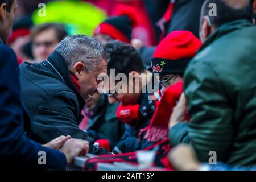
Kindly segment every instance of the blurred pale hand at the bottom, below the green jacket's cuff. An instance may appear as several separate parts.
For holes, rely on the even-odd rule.
[[[201,166],[193,147],[186,144],[173,148],[168,154],[168,159],[179,171],[197,171]]]

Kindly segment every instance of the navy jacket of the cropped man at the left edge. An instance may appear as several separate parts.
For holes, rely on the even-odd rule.
[[[23,119],[27,114],[21,101],[18,61],[14,51],[3,45],[0,45],[0,77],[1,167],[65,170],[66,158],[63,153],[42,147],[24,133],[26,128],[29,136],[30,121]],[[46,152],[46,165],[39,165],[39,151]]]

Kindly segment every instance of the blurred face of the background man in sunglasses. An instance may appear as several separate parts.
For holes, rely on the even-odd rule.
[[[53,28],[48,28],[39,32],[32,42],[32,53],[35,60],[43,61],[54,51],[60,41],[57,39],[56,31]]]

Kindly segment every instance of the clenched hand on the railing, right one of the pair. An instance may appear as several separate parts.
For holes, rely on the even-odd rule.
[[[60,150],[71,164],[76,156],[85,156],[89,151],[89,142],[81,139],[69,139]]]

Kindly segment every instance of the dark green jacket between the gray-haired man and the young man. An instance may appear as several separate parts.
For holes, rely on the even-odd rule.
[[[118,102],[110,104],[108,97],[104,94],[101,95],[95,116],[88,119],[87,133],[90,137],[94,140],[108,139],[110,146],[115,147],[125,129],[115,114],[118,106]]]

